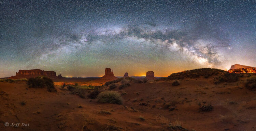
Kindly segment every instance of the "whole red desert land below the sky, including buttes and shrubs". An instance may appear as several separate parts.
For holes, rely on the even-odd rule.
[[[1,130],[255,130],[256,74],[195,69],[168,77],[64,78],[39,70],[1,79]],[[255,71],[250,67],[248,70]],[[247,70],[247,71],[248,71]],[[21,73],[29,72],[29,73]],[[53,72],[53,71],[52,71]],[[33,74],[34,77],[29,78]],[[54,90],[37,79],[52,78]],[[17,77],[19,76],[19,77]],[[34,78],[34,79],[33,79]],[[65,85],[64,84],[65,81]],[[104,97],[102,101],[102,95]],[[113,96],[112,96],[113,95]],[[21,123],[18,127],[4,124]],[[28,127],[22,123],[29,124]]]

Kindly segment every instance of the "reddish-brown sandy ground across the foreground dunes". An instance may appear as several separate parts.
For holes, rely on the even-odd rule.
[[[179,86],[172,86],[172,81],[131,83],[123,90],[114,89],[123,92],[123,105],[80,98],[61,90],[61,81],[57,81],[57,92],[28,88],[25,82],[0,82],[0,130],[161,131],[181,123],[183,128],[197,131],[255,131],[256,91],[245,88],[245,81],[242,77],[215,85],[213,77],[200,77],[183,79]],[[213,110],[200,111],[203,102]]]

